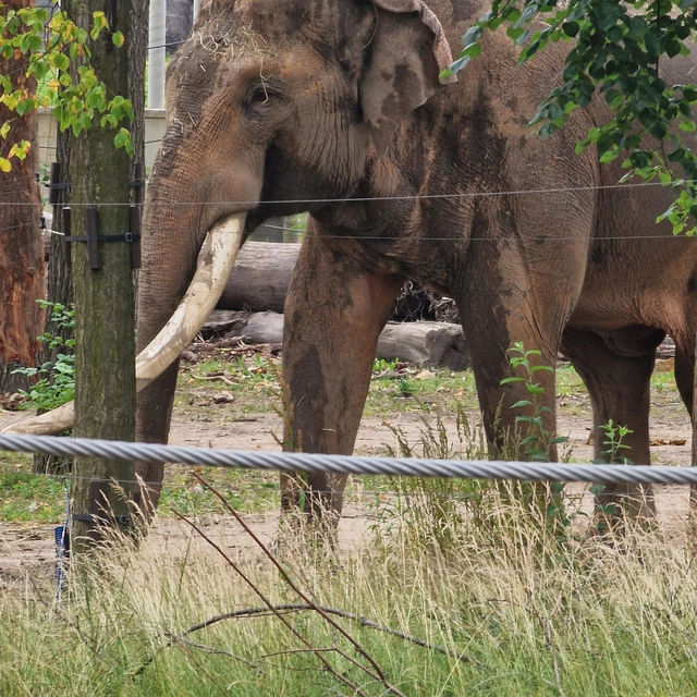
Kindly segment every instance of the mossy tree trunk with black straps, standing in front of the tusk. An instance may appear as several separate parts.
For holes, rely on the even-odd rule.
[[[103,11],[112,32],[121,32],[125,46],[117,49],[109,33],[91,42],[97,75],[113,95],[127,95],[132,3],[121,0],[85,0],[75,20],[87,27],[95,11]],[[140,48],[138,63],[145,60]],[[143,70],[132,65],[133,71]],[[139,123],[139,121],[138,121]],[[132,162],[113,147],[113,131],[96,124],[73,142],[71,162],[72,234],[118,235],[130,231]],[[142,131],[138,134],[142,139]],[[134,146],[135,152],[142,145]],[[89,208],[96,205],[94,228]],[[111,204],[111,205],[110,205]],[[121,204],[121,205],[113,205]],[[134,440],[135,436],[135,319],[132,249],[125,242],[98,245],[99,268],[91,268],[86,244],[73,244],[75,296],[75,435],[89,438]],[[95,516],[127,526],[133,498],[132,462],[95,457],[75,458],[72,549],[83,551],[97,537]],[[118,482],[115,488],[111,482]],[[120,490],[119,490],[120,489]],[[125,517],[120,517],[125,516]]]

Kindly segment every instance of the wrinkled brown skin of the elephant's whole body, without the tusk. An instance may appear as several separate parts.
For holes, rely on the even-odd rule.
[[[168,131],[143,241],[139,347],[175,308],[213,222],[246,211],[252,230],[309,209],[285,308],[289,443],[352,451],[377,337],[400,285],[415,279],[457,302],[492,442],[499,404],[505,429],[519,414],[510,405],[526,396],[519,384],[500,387],[510,375],[506,350],[522,341],[542,352],[542,364],[553,366],[560,348],[572,359],[591,395],[597,451],[598,427],[612,418],[634,431],[629,457],[648,463],[649,376],[665,332],[692,407],[697,245],[655,224],[670,193],[597,188],[615,184],[619,168],[601,167],[592,149],[576,156],[574,145],[607,118],[600,102],[546,142],[526,129],[559,80],[563,47],[518,68],[510,39],[489,37],[457,84],[439,85],[450,60],[440,25],[457,47],[485,4],[430,0],[432,13],[420,0],[205,7],[168,71]],[[667,82],[690,82],[689,65],[674,61]],[[467,196],[529,189],[553,191]],[[368,197],[405,198],[265,203]],[[172,366],[142,394],[140,439],[167,439],[175,375]],[[553,430],[554,376],[538,376]],[[151,481],[161,472],[144,474]],[[309,478],[335,512],[343,484]],[[293,499],[286,489],[284,504]]]

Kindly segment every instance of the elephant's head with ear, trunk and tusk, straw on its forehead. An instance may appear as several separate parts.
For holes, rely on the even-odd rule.
[[[350,197],[367,159],[389,147],[450,61],[423,0],[201,8],[168,69],[167,133],[146,201],[138,387],[163,375],[142,393],[142,439],[167,438],[176,359],[215,306],[244,233]]]

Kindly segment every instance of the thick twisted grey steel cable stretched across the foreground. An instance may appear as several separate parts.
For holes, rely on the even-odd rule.
[[[188,445],[130,443],[91,438],[0,433],[0,451],[91,456],[105,460],[172,462],[241,469],[277,469],[408,477],[591,481],[597,484],[697,484],[697,468],[649,465],[572,465],[559,463],[358,457],[311,453],[215,450]]]

